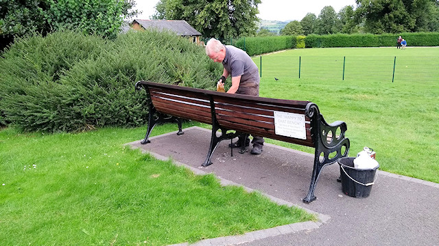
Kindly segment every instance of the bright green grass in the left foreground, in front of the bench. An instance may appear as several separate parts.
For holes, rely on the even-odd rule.
[[[1,130],[0,245],[169,245],[316,219],[123,147],[144,134]]]

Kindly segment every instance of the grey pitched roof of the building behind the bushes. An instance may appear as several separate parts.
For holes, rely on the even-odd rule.
[[[195,30],[185,20],[141,20],[134,19],[145,29],[155,28],[158,30],[170,30],[177,33],[178,36],[201,36],[201,33]]]

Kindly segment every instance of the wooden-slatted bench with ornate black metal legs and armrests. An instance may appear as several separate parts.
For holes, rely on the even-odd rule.
[[[227,94],[150,81],[139,81],[135,86],[137,90],[145,89],[150,110],[147,132],[141,143],[150,142],[150,133],[159,122],[176,121],[177,135],[183,134],[181,119],[212,125],[204,167],[212,164],[212,154],[220,141],[243,134],[315,148],[311,184],[302,199],[305,203],[316,200],[314,190],[322,168],[349,152],[346,123],[328,124],[313,102]],[[241,146],[245,148],[245,144]]]

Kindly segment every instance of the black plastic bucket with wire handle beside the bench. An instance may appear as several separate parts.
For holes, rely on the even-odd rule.
[[[373,169],[356,169],[354,159],[355,157],[344,157],[338,160],[342,191],[350,197],[365,198],[370,195],[379,165]]]

